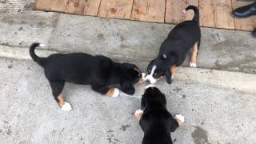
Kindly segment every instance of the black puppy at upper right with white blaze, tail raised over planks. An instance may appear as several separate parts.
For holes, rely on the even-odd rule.
[[[181,22],[170,31],[166,40],[162,42],[158,57],[151,61],[147,67],[147,82],[154,83],[158,78],[166,75],[166,81],[170,84],[178,66],[184,62],[186,53],[192,47],[190,66],[197,66],[196,58],[201,39],[199,13],[195,6],[186,7],[186,10],[190,9],[194,10],[193,20]],[[183,12],[185,13],[186,10]]]

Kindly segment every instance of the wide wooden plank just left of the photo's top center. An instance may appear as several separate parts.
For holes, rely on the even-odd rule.
[[[102,0],[98,16],[130,19],[134,0]]]

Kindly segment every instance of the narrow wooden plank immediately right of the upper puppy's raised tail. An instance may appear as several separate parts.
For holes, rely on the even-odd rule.
[[[199,1],[200,11],[200,25],[215,27],[215,10],[213,0],[200,0]]]

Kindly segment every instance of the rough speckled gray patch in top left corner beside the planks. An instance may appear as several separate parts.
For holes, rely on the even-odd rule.
[[[0,15],[18,14],[23,10],[32,10],[36,0],[1,0]]]

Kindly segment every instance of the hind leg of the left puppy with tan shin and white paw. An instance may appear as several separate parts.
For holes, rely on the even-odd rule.
[[[50,87],[53,91],[54,99],[56,100],[56,102],[58,102],[58,105],[62,108],[62,110],[70,111],[72,110],[72,107],[70,103],[65,102],[65,99],[62,94],[64,84],[64,81],[50,81]]]

